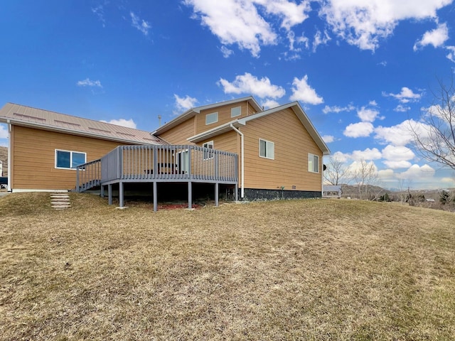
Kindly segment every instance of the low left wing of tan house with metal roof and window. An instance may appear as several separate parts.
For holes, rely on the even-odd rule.
[[[101,158],[119,145],[161,144],[147,131],[7,103],[9,190],[71,190],[79,163]]]

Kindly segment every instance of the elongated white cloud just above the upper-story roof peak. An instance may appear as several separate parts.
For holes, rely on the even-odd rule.
[[[233,82],[220,78],[218,85],[223,86],[225,94],[252,94],[260,98],[271,99],[283,97],[286,91],[278,85],[272,85],[269,78],[262,77],[260,80],[245,72],[245,75],[236,76]]]

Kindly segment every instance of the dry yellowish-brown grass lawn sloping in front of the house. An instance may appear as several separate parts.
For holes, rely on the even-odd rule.
[[[0,340],[454,340],[455,215],[0,198]]]

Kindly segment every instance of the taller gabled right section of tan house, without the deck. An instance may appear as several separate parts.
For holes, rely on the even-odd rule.
[[[170,144],[237,153],[240,197],[320,197],[330,151],[298,102],[263,111],[253,97],[190,109],[154,131]]]

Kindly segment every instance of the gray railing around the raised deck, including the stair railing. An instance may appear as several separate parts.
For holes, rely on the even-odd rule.
[[[92,163],[100,165],[99,173],[87,172]],[[77,166],[76,190],[84,183],[100,185],[117,180],[237,183],[238,177],[236,153],[200,146],[118,146],[92,163]],[[94,178],[89,179],[89,174]]]

